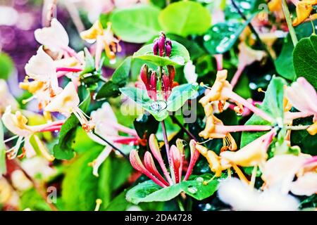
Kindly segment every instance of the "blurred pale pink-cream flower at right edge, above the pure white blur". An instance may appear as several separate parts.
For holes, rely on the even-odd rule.
[[[317,192],[317,157],[310,155],[275,155],[261,168],[264,188],[278,188],[282,193],[312,195]],[[297,176],[297,180],[294,177]]]

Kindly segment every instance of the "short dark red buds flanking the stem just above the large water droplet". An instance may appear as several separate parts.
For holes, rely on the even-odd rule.
[[[140,77],[142,82],[147,89],[147,94],[149,97],[156,101],[157,100],[157,89],[158,89],[158,82],[161,82],[161,91],[165,101],[167,101],[168,96],[170,96],[170,92],[172,91],[173,87],[177,85],[174,82],[175,78],[175,68],[173,65],[167,65],[168,74],[166,74],[165,70],[162,70],[162,77],[158,76],[157,72],[154,70],[149,70],[147,64],[144,64],[140,71]]]

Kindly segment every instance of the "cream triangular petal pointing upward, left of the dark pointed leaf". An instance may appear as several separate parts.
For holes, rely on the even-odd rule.
[[[73,82],[69,82],[66,87],[58,94],[45,110],[48,112],[72,113],[80,103],[77,91]]]

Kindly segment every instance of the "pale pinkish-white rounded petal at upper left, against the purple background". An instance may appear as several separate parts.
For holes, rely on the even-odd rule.
[[[34,34],[35,39],[51,51],[63,51],[68,48],[68,34],[56,18],[51,20],[51,27],[37,29]]]

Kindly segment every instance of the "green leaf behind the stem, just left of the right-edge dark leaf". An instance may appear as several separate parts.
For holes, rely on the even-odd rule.
[[[278,58],[274,60],[274,65],[278,74],[290,80],[294,80],[296,77],[294,65],[292,63],[293,49],[294,46],[292,44],[292,40],[290,39],[290,37],[288,37],[287,39],[285,39],[285,42],[282,46],[280,56],[278,56]]]

